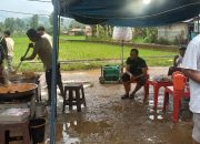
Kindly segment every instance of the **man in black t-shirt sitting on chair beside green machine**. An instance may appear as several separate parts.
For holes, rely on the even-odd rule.
[[[139,56],[138,49],[130,51],[130,56],[127,59],[126,72],[122,74],[122,83],[126,94],[121,99],[134,99],[134,94],[144,85],[147,81],[147,63]],[[137,85],[130,94],[131,83],[136,82]],[[129,95],[130,94],[130,95]]]

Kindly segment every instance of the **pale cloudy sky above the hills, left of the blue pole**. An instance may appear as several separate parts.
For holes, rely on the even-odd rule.
[[[49,2],[41,2],[49,1]],[[10,12],[9,12],[10,11]],[[53,11],[51,0],[0,0],[0,20],[4,18],[23,18],[32,14],[50,14]],[[13,13],[19,12],[19,13]],[[20,14],[20,13],[23,14]],[[26,14],[27,13],[27,14]]]

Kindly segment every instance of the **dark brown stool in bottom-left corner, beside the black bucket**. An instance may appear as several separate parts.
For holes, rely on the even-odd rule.
[[[14,131],[17,128],[22,132],[22,144],[30,144],[28,119],[22,122],[0,122],[0,144],[8,144],[10,137],[6,138],[6,133],[9,135],[8,132]]]

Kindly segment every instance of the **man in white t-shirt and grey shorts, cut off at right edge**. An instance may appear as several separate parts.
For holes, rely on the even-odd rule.
[[[200,34],[188,44],[182,72],[189,78],[190,111],[193,113],[193,144],[200,144]]]

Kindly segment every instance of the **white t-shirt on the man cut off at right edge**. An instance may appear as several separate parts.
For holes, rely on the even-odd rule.
[[[193,38],[188,44],[182,60],[182,68],[200,72],[200,34]],[[200,113],[200,83],[190,82],[190,111]]]

